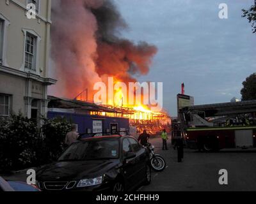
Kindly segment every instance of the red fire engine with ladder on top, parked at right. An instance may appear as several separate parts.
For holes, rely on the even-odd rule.
[[[212,151],[256,147],[256,101],[179,108],[180,130],[189,147]]]

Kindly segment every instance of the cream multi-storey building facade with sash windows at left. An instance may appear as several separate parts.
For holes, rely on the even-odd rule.
[[[51,0],[0,1],[1,117],[47,115],[50,27]]]

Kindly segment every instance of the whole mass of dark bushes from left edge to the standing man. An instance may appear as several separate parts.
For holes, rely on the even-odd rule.
[[[19,115],[0,118],[0,171],[20,170],[51,163],[64,150],[72,124],[65,119],[34,119]]]

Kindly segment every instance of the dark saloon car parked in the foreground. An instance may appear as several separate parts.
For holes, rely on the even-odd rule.
[[[150,184],[150,155],[132,136],[81,139],[36,179],[42,191],[131,191]]]

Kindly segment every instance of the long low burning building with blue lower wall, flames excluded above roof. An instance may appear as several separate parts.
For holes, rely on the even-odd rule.
[[[95,133],[94,122],[100,122],[102,133],[129,131],[138,136],[143,129],[156,135],[162,129],[170,131],[171,120],[165,112],[150,112],[111,105],[96,105],[88,101],[49,96],[48,117],[65,117],[77,125],[79,133]],[[97,133],[97,132],[96,132]]]

